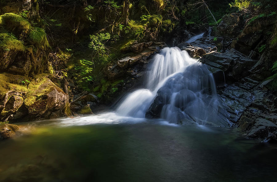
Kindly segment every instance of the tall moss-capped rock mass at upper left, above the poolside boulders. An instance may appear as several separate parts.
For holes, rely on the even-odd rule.
[[[47,69],[50,46],[43,29],[19,15],[0,16],[0,69],[34,75]]]

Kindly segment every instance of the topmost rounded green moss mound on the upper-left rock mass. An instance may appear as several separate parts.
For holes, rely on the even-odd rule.
[[[22,38],[31,29],[31,24],[21,16],[13,13],[6,13],[0,16],[1,17],[1,26],[13,34],[17,35],[19,38]]]

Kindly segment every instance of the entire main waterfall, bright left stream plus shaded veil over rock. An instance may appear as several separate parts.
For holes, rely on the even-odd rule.
[[[170,123],[189,120],[226,125],[218,113],[220,103],[212,73],[187,51],[177,47],[161,50],[154,56],[145,82],[144,88],[121,99],[116,109],[119,115],[144,118],[146,113],[153,114],[151,109],[159,103],[155,117]]]

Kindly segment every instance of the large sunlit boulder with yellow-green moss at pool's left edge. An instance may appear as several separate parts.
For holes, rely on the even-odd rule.
[[[68,94],[47,77],[40,77],[29,84],[24,104],[29,114],[41,115],[44,118],[71,114],[68,111]]]

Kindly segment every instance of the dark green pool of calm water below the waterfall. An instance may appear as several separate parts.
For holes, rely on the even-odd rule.
[[[277,181],[276,144],[236,129],[51,122],[0,143],[0,181]]]

